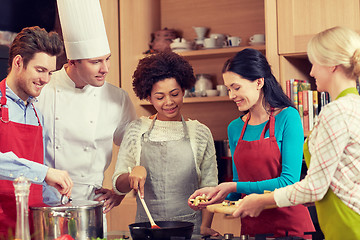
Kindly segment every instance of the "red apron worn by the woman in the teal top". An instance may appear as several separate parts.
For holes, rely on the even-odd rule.
[[[234,152],[234,163],[239,175],[240,182],[256,182],[277,178],[281,174],[281,152],[275,138],[275,117],[269,117],[260,140],[242,140],[249,117],[246,119],[241,136]],[[269,128],[269,138],[265,138],[265,132]],[[267,209],[256,217],[241,219],[241,234],[274,234],[274,237],[297,236],[311,238],[304,232],[315,231],[310,214],[306,207],[298,205],[294,207]]]

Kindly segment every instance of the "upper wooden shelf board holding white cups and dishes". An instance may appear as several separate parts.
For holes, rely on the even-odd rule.
[[[253,48],[261,52],[265,52],[265,45],[254,45],[254,46],[238,46],[238,47],[224,47],[224,48],[216,48],[216,49],[191,50],[191,51],[178,52],[178,54],[185,57],[186,59],[201,59],[205,57],[229,57],[234,55],[234,53],[244,50],[245,48]]]

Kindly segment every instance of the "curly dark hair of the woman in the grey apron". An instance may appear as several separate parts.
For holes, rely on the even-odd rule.
[[[192,66],[183,57],[171,51],[159,52],[139,61],[133,74],[136,96],[147,99],[153,85],[166,78],[175,78],[183,90],[192,88],[196,81]]]

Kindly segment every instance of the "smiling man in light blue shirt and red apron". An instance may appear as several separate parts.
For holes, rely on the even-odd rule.
[[[29,204],[42,202],[45,182],[61,194],[71,193],[68,173],[43,165],[43,117],[33,106],[56,70],[56,56],[62,50],[60,37],[39,27],[24,28],[10,48],[10,73],[0,83],[0,239],[15,232],[15,178],[25,176],[35,183]]]

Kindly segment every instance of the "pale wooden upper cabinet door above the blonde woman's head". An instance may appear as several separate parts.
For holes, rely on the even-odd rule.
[[[360,30],[358,0],[277,0],[279,54],[306,53],[309,39],[334,26]]]

